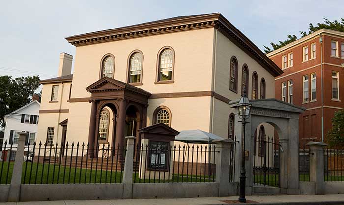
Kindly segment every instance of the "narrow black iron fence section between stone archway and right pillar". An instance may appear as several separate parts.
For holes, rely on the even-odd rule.
[[[299,181],[310,181],[309,146],[299,143]]]

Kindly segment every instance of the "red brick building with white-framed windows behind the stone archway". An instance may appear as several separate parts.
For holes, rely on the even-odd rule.
[[[331,118],[344,107],[344,32],[321,29],[267,56],[284,71],[275,78],[275,98],[306,108],[300,143],[326,141]]]

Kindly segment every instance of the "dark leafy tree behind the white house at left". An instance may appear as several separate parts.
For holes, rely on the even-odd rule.
[[[0,76],[0,127],[5,127],[4,116],[28,104],[39,87],[39,76],[12,79]],[[40,93],[36,93],[40,94]]]

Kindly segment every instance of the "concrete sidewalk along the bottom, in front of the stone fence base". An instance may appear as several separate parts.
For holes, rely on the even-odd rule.
[[[238,196],[180,199],[65,200],[44,202],[7,202],[0,205],[229,205]],[[252,204],[270,205],[344,205],[344,194],[247,196]],[[251,204],[251,205],[252,205]]]

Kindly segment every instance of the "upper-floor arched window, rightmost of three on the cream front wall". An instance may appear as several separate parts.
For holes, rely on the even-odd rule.
[[[174,70],[174,51],[171,47],[164,47],[159,52],[159,67],[157,82],[172,82]]]

